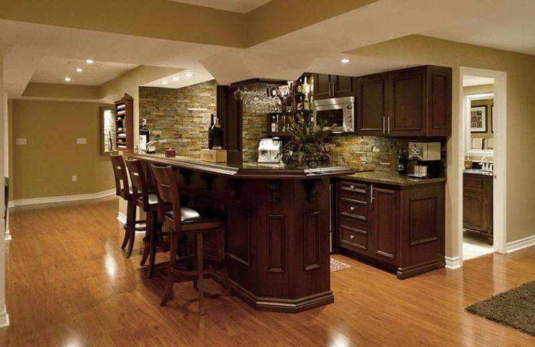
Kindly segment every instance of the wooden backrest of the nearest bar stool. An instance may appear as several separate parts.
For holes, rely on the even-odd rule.
[[[161,222],[164,220],[167,206],[173,206],[173,214],[175,216],[175,232],[181,234],[180,221],[180,195],[178,193],[178,182],[176,180],[173,167],[160,166],[151,164],[151,171],[153,172],[154,182],[156,185],[156,195],[158,196],[158,219]]]

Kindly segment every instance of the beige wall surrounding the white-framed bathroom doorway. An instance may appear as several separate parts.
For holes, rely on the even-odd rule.
[[[457,172],[459,167],[459,67],[507,73],[507,242],[535,234],[535,56],[411,35],[350,51],[362,56],[430,63],[453,68],[453,134],[448,141],[447,256],[459,254]]]

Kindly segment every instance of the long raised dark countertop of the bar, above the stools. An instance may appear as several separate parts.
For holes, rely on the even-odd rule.
[[[317,168],[287,168],[284,164],[268,164],[260,162],[205,162],[194,157],[165,157],[163,154],[139,154],[125,152],[132,157],[158,164],[179,167],[185,170],[212,173],[237,178],[267,179],[310,179],[317,177],[343,176],[355,172],[349,166],[327,165]]]

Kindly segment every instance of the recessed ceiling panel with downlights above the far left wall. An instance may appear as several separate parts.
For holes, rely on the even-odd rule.
[[[137,67],[138,65],[136,64],[107,63],[102,61],[87,64],[85,60],[81,59],[45,56],[39,61],[34,75],[31,76],[31,82],[100,86]],[[82,68],[83,71],[78,73],[76,72],[76,68]],[[63,78],[65,77],[71,78],[71,82],[64,81]]]

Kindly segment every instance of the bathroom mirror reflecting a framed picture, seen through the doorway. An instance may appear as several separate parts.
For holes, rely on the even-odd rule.
[[[479,157],[494,155],[494,93],[464,95],[465,153]]]

